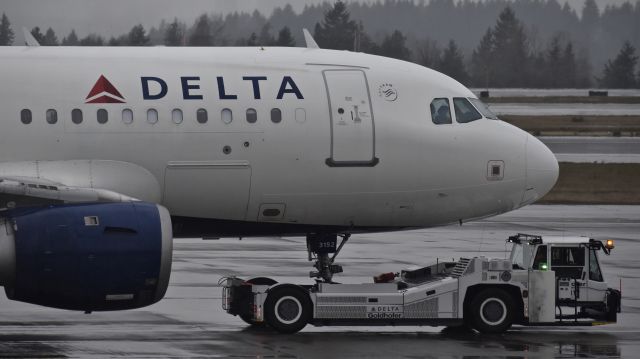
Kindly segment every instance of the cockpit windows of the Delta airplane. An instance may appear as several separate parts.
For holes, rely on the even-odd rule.
[[[472,104],[473,103],[473,104]],[[474,107],[475,105],[475,107]],[[451,106],[448,98],[436,98],[431,101],[431,120],[436,125],[453,123],[451,119]],[[454,97],[453,108],[456,113],[456,122],[469,123],[486,117],[491,120],[498,120],[487,105],[475,98]]]

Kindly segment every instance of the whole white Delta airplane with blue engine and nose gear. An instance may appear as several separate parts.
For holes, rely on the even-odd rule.
[[[306,236],[331,280],[319,248],[338,235],[486,218],[555,184],[551,151],[455,80],[306,35],[307,48],[0,48],[7,296],[155,303],[180,237]]]

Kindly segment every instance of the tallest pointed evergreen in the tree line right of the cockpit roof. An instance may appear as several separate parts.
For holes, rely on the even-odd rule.
[[[507,6],[493,30],[493,86],[525,87],[528,79],[527,36],[520,20]]]

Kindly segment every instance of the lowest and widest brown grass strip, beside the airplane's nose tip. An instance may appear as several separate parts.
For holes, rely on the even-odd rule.
[[[640,163],[560,163],[540,203],[640,204]]]

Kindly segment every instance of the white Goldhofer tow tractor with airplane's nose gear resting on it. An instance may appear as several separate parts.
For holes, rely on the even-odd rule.
[[[317,254],[318,271],[311,274],[322,279],[297,285],[264,277],[223,278],[223,309],[281,333],[295,333],[307,324],[465,325],[502,333],[512,324],[610,324],[620,313],[620,291],[608,288],[598,260],[600,252],[610,254],[612,240],[517,234],[507,239],[509,259],[436,261],[381,274],[373,283],[338,284],[332,275],[342,270],[333,260],[348,236],[338,247],[330,236],[307,239],[310,259]]]

